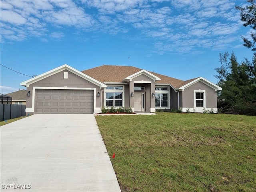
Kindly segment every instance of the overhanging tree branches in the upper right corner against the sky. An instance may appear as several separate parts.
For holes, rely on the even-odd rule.
[[[236,6],[236,9],[240,10],[241,20],[244,23],[244,26],[250,26],[253,30],[256,30],[256,1],[255,0],[247,0],[250,5],[245,8],[241,6]],[[244,46],[248,48],[252,48],[252,51],[256,51],[256,32],[250,32],[252,40],[248,40],[244,36],[242,36],[244,40]],[[255,54],[254,54],[255,55]]]

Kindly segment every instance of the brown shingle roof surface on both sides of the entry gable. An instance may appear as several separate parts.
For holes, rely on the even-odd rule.
[[[82,71],[82,73],[104,83],[104,82],[122,82],[124,78],[141,71],[142,69],[132,67],[132,66],[114,66],[114,65],[102,65],[96,68],[88,69]],[[150,72],[150,71],[148,71]],[[157,81],[156,84],[171,84],[174,88],[180,87],[180,85],[184,85],[191,82],[192,80],[179,80],[176,78],[164,76],[161,74],[157,74],[154,72],[150,72],[155,76],[161,78],[161,80]]]

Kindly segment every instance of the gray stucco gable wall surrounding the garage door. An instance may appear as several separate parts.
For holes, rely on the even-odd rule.
[[[68,72],[68,79],[63,78],[64,72]],[[96,88],[96,93],[98,91],[100,92],[100,97],[98,98],[96,96],[96,107],[101,107],[101,97],[102,97],[102,92],[99,86],[96,86],[92,82],[89,82],[85,80],[84,78],[81,78],[80,76],[77,76],[76,74],[68,71],[68,70],[63,70],[61,72],[58,72],[52,76],[49,76],[47,78],[44,78],[38,82],[35,82],[33,84],[30,84],[29,87],[27,88],[27,92],[31,92],[31,96],[27,97],[26,101],[26,107],[30,108],[32,107],[32,98],[33,98],[33,87],[64,87],[66,86],[67,88],[72,88],[72,87],[77,87],[77,88]],[[30,113],[31,114],[31,113]]]

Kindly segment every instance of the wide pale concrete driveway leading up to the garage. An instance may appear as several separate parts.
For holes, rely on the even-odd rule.
[[[0,131],[1,191],[120,191],[93,114],[32,115]]]

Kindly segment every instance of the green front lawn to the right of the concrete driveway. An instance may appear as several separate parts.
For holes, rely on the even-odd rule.
[[[162,112],[96,120],[122,191],[256,189],[256,117]]]

